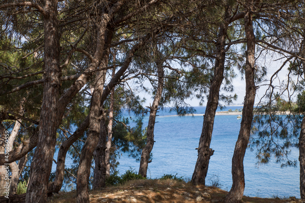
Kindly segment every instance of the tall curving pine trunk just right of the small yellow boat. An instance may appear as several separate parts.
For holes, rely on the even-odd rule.
[[[235,144],[234,155],[232,158],[232,180],[231,190],[225,198],[226,203],[235,203],[242,201],[242,195],[245,189],[245,174],[243,160],[248,146],[251,124],[253,119],[253,105],[255,100],[254,83],[254,63],[255,63],[255,36],[252,24],[253,5],[248,4],[245,14],[245,32],[247,39],[246,51],[246,97],[242,109],[242,121],[237,142]]]

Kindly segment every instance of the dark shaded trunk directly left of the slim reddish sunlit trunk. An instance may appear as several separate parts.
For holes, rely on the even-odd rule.
[[[105,118],[100,123],[99,143],[95,148],[93,157],[95,162],[92,189],[98,190],[105,187],[106,181],[106,137]]]

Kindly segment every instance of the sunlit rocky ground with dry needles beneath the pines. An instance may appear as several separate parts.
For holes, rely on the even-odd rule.
[[[90,202],[92,203],[210,203],[224,202],[228,192],[217,187],[192,186],[176,180],[134,180],[119,187],[107,187],[101,191],[90,192]],[[48,202],[68,203],[76,202],[76,192],[55,194],[48,198]],[[243,197],[243,202],[253,203],[278,203],[304,202],[295,197],[287,199],[280,198],[252,198]]]

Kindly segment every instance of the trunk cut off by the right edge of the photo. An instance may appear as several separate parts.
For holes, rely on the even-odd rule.
[[[300,150],[300,194],[301,199],[305,199],[305,117],[303,117],[301,132],[299,137]]]

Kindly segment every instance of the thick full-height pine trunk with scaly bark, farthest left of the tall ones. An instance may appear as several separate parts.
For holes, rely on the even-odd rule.
[[[26,202],[47,201],[48,180],[52,169],[52,160],[56,145],[57,108],[61,84],[57,0],[46,0],[44,10],[44,90],[39,121],[38,143],[31,163]]]

